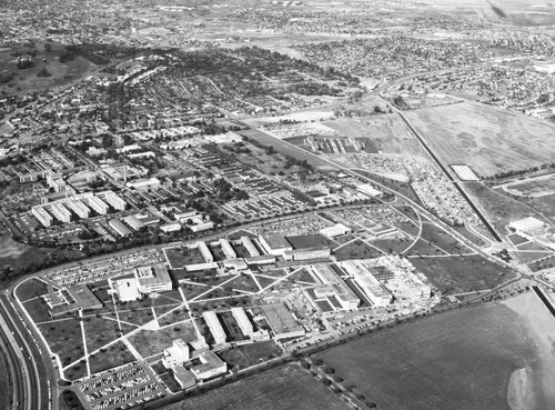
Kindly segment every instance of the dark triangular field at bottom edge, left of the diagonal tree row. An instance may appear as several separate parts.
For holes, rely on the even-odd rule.
[[[295,364],[185,398],[167,410],[345,410],[346,403]]]

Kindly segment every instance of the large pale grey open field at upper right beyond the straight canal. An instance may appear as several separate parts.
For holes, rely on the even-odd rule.
[[[481,176],[555,160],[555,126],[486,104],[463,102],[405,117],[445,164],[465,163]]]

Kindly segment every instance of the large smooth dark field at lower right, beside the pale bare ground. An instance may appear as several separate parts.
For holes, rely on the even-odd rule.
[[[319,357],[390,410],[505,410],[512,373],[537,364],[526,326],[501,304],[382,330]]]

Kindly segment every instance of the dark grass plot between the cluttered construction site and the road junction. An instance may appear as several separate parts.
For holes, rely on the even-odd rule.
[[[492,289],[514,277],[513,271],[477,254],[410,260],[443,294]]]

